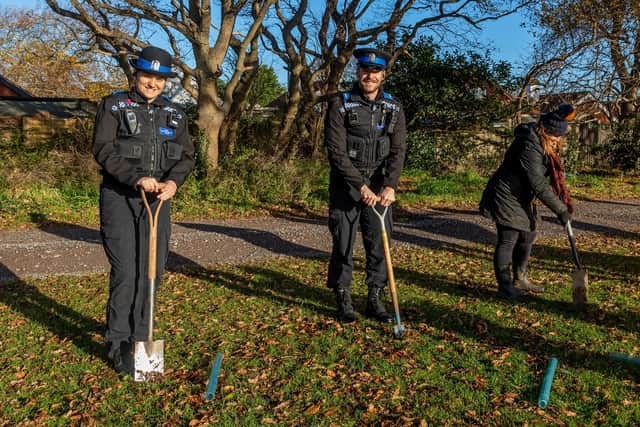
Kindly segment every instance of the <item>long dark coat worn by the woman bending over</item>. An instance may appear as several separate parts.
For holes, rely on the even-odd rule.
[[[536,125],[520,125],[514,134],[515,140],[482,194],[480,212],[498,224],[533,231],[536,227],[535,198],[556,215],[565,212],[567,206],[551,191],[547,182],[549,156],[542,149]]]

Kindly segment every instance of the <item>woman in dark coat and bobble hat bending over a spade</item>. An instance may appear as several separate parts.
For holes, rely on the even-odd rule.
[[[521,291],[544,291],[527,280],[536,237],[534,201],[537,198],[551,209],[563,226],[571,219],[573,207],[558,152],[564,145],[567,120],[574,116],[573,107],[563,104],[540,116],[537,123],[516,127],[513,143],[482,194],[480,212],[496,222],[498,232],[493,265],[500,297],[514,299]]]

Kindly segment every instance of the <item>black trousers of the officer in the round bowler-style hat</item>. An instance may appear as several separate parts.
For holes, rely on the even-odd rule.
[[[155,212],[157,199],[153,193],[147,193],[147,198]],[[158,215],[156,287],[169,253],[169,212],[170,201],[165,201]],[[111,264],[105,334],[105,341],[111,344],[111,353],[121,342],[147,339],[149,223],[140,193],[129,187],[103,183],[100,188],[100,232]]]

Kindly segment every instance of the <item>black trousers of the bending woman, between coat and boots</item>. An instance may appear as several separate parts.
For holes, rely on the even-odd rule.
[[[536,238],[535,231],[523,231],[497,224],[498,243],[493,255],[496,276],[513,263],[513,267],[526,268],[531,255],[531,247]],[[500,281],[500,277],[498,277]]]

